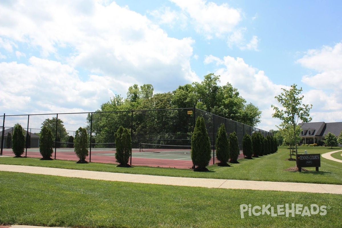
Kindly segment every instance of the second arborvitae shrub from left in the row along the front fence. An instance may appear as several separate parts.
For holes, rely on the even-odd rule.
[[[53,134],[50,128],[43,126],[39,136],[39,152],[42,155],[40,160],[52,160]]]

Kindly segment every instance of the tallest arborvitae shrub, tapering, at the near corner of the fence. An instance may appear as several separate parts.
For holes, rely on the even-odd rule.
[[[211,159],[211,145],[203,117],[197,117],[194,133],[191,136],[191,159],[197,168],[194,171],[207,171]]]

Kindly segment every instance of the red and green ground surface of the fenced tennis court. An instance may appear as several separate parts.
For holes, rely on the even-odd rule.
[[[12,149],[3,149],[2,155],[14,156]],[[30,158],[41,158],[41,154],[39,152],[39,148],[28,148],[27,152],[24,151],[22,156],[30,157]],[[145,156],[145,157],[144,157]],[[170,158],[166,158],[169,156]],[[70,160],[70,161],[78,161],[79,158],[76,156],[73,149],[70,148],[57,148],[56,153],[53,152],[52,158],[60,159],[60,160]],[[239,159],[244,158],[242,153],[239,155]],[[98,162],[98,163],[112,163],[118,164],[115,159],[115,151],[111,150],[100,150],[100,149],[92,149],[90,155],[86,158],[89,162]],[[215,162],[217,159],[215,158]],[[129,162],[130,163],[130,162]],[[168,154],[167,152],[163,153],[154,153],[154,152],[139,152],[139,149],[132,149],[132,165],[139,166],[151,166],[151,167],[171,167],[178,169],[191,169],[193,166],[192,160],[190,158],[189,153],[185,153],[185,155],[172,155],[172,152]],[[214,164],[213,158],[209,162],[209,165]]]

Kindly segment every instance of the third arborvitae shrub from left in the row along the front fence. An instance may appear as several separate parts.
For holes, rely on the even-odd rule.
[[[88,133],[87,129],[79,128],[75,132],[74,147],[77,157],[80,159],[77,163],[88,163],[86,157],[88,156]]]

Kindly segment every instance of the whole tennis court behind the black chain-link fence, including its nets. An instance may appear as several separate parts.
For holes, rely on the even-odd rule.
[[[86,160],[98,163],[118,164],[115,159],[115,144],[92,145],[88,148],[89,156]],[[107,146],[102,148],[103,146]],[[56,151],[56,152],[55,152]],[[3,155],[14,156],[12,149],[3,149]],[[211,161],[209,164],[217,162],[213,158],[214,151],[211,152]],[[41,158],[39,148],[25,149],[23,156],[31,158]],[[53,159],[78,161],[74,148],[56,148],[52,154]],[[239,158],[243,158],[240,154]],[[153,166],[153,167],[172,167],[181,169],[190,169],[193,166],[191,160],[191,146],[180,145],[158,145],[158,144],[139,144],[139,148],[132,149],[132,158],[129,161],[132,165]]]

